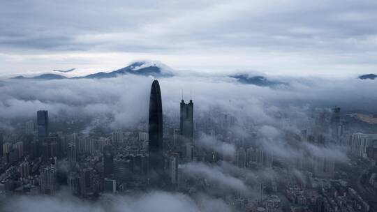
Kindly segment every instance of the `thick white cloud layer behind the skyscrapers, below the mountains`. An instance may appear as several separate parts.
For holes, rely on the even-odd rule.
[[[145,121],[151,77],[126,75],[110,79],[7,80],[0,86],[0,119],[34,119],[38,109],[52,116],[111,117],[112,127]],[[288,79],[286,79],[288,80]],[[289,79],[275,88],[239,84],[228,77],[160,79],[163,110],[178,114],[179,101],[193,93],[195,115],[218,107],[255,123],[274,122],[272,115],[290,114],[303,120],[313,107],[366,109],[375,112],[377,82],[358,79]],[[240,119],[239,121],[242,121]]]

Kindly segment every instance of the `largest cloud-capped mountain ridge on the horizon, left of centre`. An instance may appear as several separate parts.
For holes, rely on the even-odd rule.
[[[160,66],[164,66],[161,65]],[[119,75],[143,75],[143,76],[153,76],[153,77],[172,77],[173,74],[168,70],[168,68],[161,68],[160,66],[156,66],[156,64],[147,63],[145,61],[131,63],[131,65],[126,66],[124,68],[114,70],[109,73],[99,72],[94,73],[91,75],[86,75],[82,77],[64,77],[62,75],[56,74],[43,74],[38,75],[35,77],[24,77],[24,76],[17,76],[13,77],[12,79],[102,79],[102,78],[111,78],[117,77]]]

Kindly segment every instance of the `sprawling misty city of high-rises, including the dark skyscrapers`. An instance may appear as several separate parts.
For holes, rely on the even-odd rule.
[[[274,135],[272,126],[221,109],[197,116],[193,98],[177,100],[179,117],[164,116],[162,93],[154,79],[148,119],[126,129],[77,132],[79,120],[52,122],[38,110],[20,129],[3,131],[1,202],[63,191],[96,202],[161,190],[211,195],[239,211],[376,210],[377,134],[360,132],[341,107],[312,110],[300,131],[277,117]],[[69,127],[53,130],[61,122]]]

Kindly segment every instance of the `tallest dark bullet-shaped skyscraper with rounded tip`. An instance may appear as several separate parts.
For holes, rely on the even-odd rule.
[[[149,98],[149,169],[162,172],[163,161],[163,114],[161,90],[157,80],[151,85]]]

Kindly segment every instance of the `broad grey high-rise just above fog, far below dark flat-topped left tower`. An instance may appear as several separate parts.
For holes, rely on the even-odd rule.
[[[40,169],[39,175],[40,193],[43,195],[54,195],[57,191],[57,171],[54,165]]]

